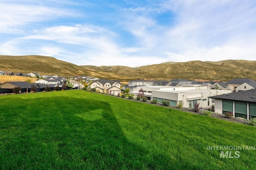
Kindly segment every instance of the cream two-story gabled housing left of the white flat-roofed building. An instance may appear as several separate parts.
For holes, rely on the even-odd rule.
[[[121,92],[119,80],[94,80],[90,85],[91,89],[95,88],[98,92],[118,95]]]

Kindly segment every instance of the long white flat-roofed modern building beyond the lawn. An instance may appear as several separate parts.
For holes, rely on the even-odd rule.
[[[209,89],[209,87],[173,87],[173,86],[142,86],[144,96],[148,100],[157,100],[158,102],[168,101],[171,106],[177,106],[179,102],[183,107],[194,107],[195,103],[200,103],[200,107],[209,109],[214,104],[214,99],[209,96],[230,93],[230,90]],[[129,92],[137,95],[137,92]]]

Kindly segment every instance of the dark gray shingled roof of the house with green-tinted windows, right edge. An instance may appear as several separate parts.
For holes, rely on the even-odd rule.
[[[254,98],[253,98],[254,97]],[[256,103],[256,89],[210,96],[209,98]]]

